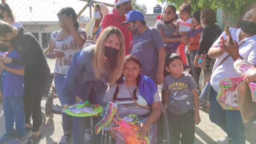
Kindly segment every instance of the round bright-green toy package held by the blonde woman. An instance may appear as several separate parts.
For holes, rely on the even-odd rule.
[[[86,102],[79,102],[78,104],[72,104],[65,110],[66,114],[70,116],[86,117],[86,116],[102,116],[102,106],[100,104],[90,104]]]

